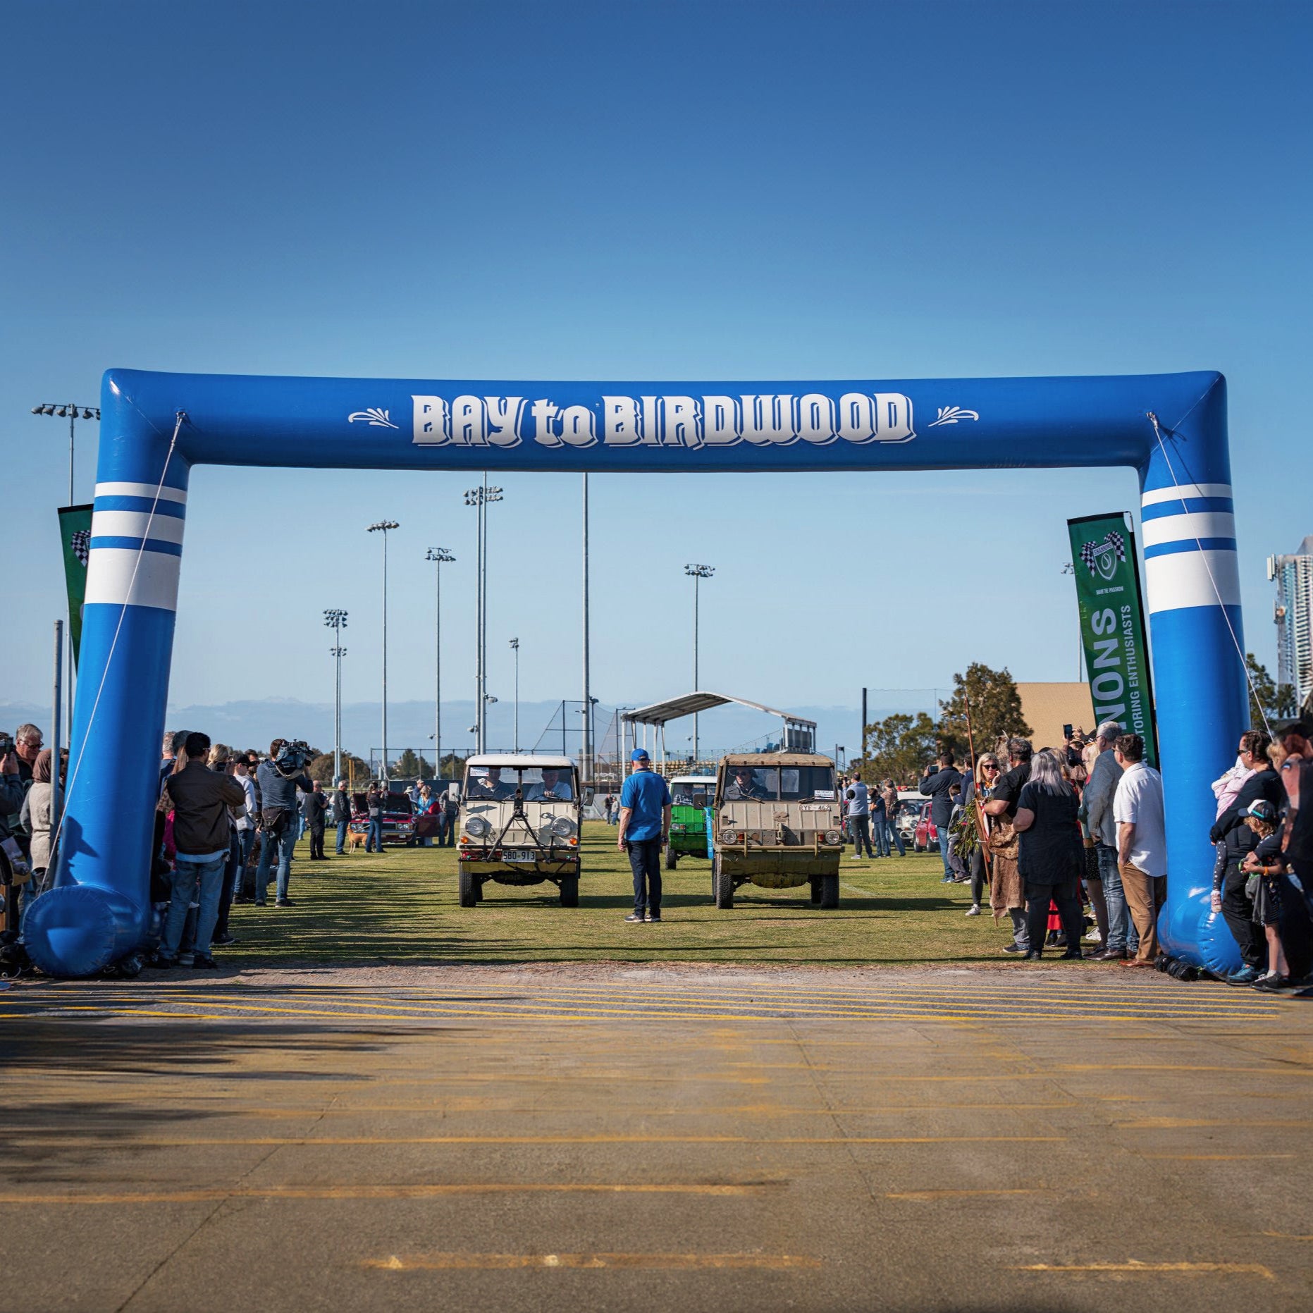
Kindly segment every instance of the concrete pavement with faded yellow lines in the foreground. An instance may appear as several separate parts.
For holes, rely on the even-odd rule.
[[[1008,965],[20,985],[0,1308],[1308,1308],[1313,1012]]]

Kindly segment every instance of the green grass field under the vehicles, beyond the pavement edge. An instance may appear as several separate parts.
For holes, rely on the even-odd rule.
[[[846,855],[836,911],[818,911],[807,889],[743,886],[730,911],[710,899],[710,867],[684,857],[664,872],[663,922],[630,926],[628,859],[616,831],[584,827],[579,907],[555,885],[487,884],[484,902],[456,899],[454,848],[386,848],[381,856],[307,860],[291,871],[295,906],[232,909],[239,943],[222,949],[234,966],[529,961],[998,962],[1010,935],[989,910],[968,918],[969,888],[940,884],[939,855],[852,861]],[[332,831],[328,836],[332,851]],[[1056,955],[1049,955],[1050,957]],[[1077,966],[1077,964],[1064,964]]]

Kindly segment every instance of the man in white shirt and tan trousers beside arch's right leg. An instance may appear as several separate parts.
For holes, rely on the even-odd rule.
[[[1123,966],[1153,966],[1158,956],[1158,913],[1167,901],[1167,827],[1162,776],[1144,760],[1138,734],[1123,734],[1113,752],[1123,775],[1112,800],[1117,825],[1117,869],[1140,935],[1140,951]]]

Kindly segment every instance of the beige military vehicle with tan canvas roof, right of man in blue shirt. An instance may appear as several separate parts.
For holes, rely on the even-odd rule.
[[[734,890],[811,886],[811,902],[839,906],[843,807],[834,762],[811,752],[733,752],[716,780],[712,895],[734,906]]]

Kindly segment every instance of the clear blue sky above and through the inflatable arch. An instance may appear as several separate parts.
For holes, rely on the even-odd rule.
[[[67,432],[106,366],[431,378],[1221,369],[1249,646],[1313,532],[1308,5],[318,3],[5,8],[5,679],[49,688]],[[79,500],[95,478],[81,428]],[[1278,483],[1279,481],[1279,483]],[[205,469],[171,700],[473,687],[469,477]],[[579,479],[509,474],[491,688],[578,697]],[[1300,490],[1293,507],[1274,487]],[[595,477],[593,692],[781,706],[1074,679],[1065,519],[1129,471]],[[769,569],[763,569],[769,561]],[[825,621],[763,651],[737,607]],[[1007,605],[1001,605],[1001,599]],[[809,608],[810,609],[810,608]],[[1002,618],[1011,614],[1012,622]],[[22,622],[14,624],[20,617]],[[777,635],[776,635],[777,637]]]

